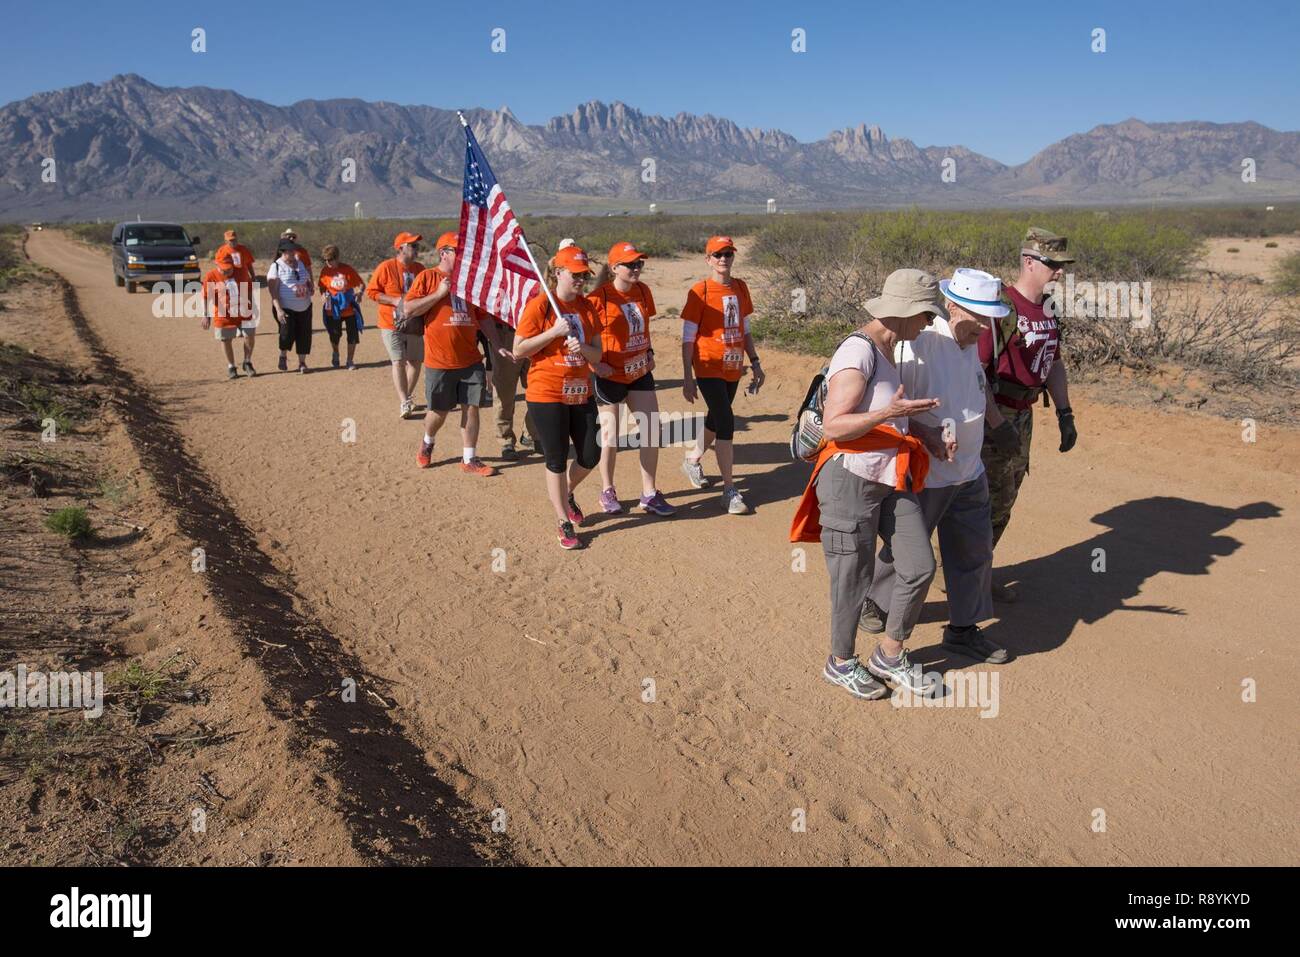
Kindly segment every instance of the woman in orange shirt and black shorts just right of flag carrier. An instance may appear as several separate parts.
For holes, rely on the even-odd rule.
[[[619,452],[619,403],[641,413],[638,443],[641,454],[642,511],[672,515],[673,508],[655,485],[659,467],[659,437],[649,424],[658,423],[659,400],[654,393],[654,351],[650,348],[650,320],[654,319],[654,295],[641,282],[645,254],[632,243],[615,243],[601,270],[595,291],[588,299],[595,307],[601,330],[601,361],[610,367],[607,376],[595,380],[597,412],[601,419],[601,507],[610,515],[623,511],[614,490],[614,464]]]

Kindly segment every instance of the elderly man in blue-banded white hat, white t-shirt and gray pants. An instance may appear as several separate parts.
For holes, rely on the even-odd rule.
[[[980,333],[992,320],[1008,315],[1002,283],[979,269],[958,269],[939,283],[948,306],[948,319],[935,321],[914,341],[894,346],[898,377],[907,395],[933,395],[939,407],[916,416],[916,423],[942,432],[950,460],[933,456],[926,488],[918,493],[926,531],[939,529],[939,554],[948,590],[948,627],[944,648],[979,662],[1008,661],[980,632],[979,622],[993,616],[992,567],[993,527],[989,512],[988,477],[980,450],[984,417],[991,441],[998,447],[1017,447],[1010,423],[989,400],[988,381],[979,360]],[[881,554],[863,607],[862,629],[879,635],[888,620],[894,592],[892,557]]]

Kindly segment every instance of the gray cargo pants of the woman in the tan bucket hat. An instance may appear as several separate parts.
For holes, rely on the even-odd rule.
[[[916,497],[859,478],[832,459],[818,475],[816,499],[831,577],[831,654],[853,657],[862,606],[871,589],[876,536],[894,560],[885,633],[906,641],[935,577],[935,553]]]

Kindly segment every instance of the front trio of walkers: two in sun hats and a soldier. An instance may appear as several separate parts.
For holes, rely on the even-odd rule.
[[[831,581],[826,680],[859,698],[888,684],[935,689],[907,658],[936,563],[939,533],[949,620],[942,644],[978,662],[1006,649],[980,631],[993,601],[993,547],[1030,468],[1034,404],[1056,404],[1060,451],[1078,441],[1060,329],[1045,287],[1072,263],[1067,239],[1031,228],[1014,283],[978,269],[936,281],[900,269],[866,303],[871,320],[826,371],[824,445],[790,529],[820,541]],[[878,554],[879,542],[879,554]],[[857,632],[879,636],[866,662]]]

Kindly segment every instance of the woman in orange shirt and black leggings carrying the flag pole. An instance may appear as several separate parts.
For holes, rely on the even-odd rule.
[[[559,520],[564,549],[582,546],[573,529],[584,519],[573,501],[573,489],[599,462],[592,371],[597,374],[612,371],[601,361],[595,307],[582,296],[590,273],[586,254],[577,246],[556,252],[546,283],[562,315],[555,315],[545,294],[533,296],[519,319],[512,350],[516,356],[529,359],[525,398],[546,458],[546,493]],[[573,464],[568,465],[571,443]]]

